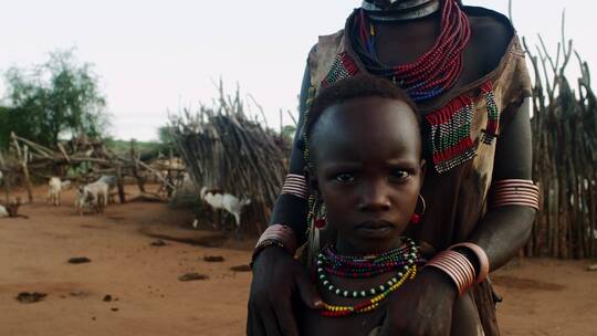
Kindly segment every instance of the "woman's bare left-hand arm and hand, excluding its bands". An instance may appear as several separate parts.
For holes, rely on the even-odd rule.
[[[311,84],[308,65],[303,76],[300,97],[300,118],[291,153],[290,172],[304,175],[302,126]],[[281,195],[274,206],[271,224],[283,223],[293,229],[297,243],[305,242],[306,201],[292,195]],[[297,336],[298,328],[292,311],[293,298],[298,294],[311,308],[322,305],[315,286],[305,267],[286,250],[275,245],[265,248],[253,263],[253,280],[249,297],[247,335]]]

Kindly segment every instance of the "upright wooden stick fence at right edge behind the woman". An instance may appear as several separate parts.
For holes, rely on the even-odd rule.
[[[597,256],[597,98],[587,63],[562,35],[555,57],[541,36],[536,51],[524,43],[535,75],[533,177],[542,206],[525,252],[590,258]],[[575,61],[582,76],[570,83],[565,71]]]

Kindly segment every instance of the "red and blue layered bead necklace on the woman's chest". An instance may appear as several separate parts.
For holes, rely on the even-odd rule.
[[[388,66],[376,53],[376,30],[366,10],[354,14],[352,44],[367,71],[400,85],[415,102],[441,95],[451,88],[462,72],[462,55],[471,28],[455,0],[442,0],[440,34],[434,45],[413,63]]]

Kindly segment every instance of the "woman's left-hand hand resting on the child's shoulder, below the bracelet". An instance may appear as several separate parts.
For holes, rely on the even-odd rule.
[[[247,335],[298,336],[292,297],[301,295],[310,308],[323,305],[304,265],[280,248],[266,248],[253,264]]]

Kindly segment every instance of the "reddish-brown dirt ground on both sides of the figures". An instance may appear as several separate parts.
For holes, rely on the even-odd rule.
[[[73,191],[60,208],[35,191],[20,211],[30,219],[0,219],[0,335],[244,334],[251,273],[230,269],[247,265],[251,241],[187,229],[192,216],[163,203],[80,217]],[[159,238],[166,245],[151,245]],[[91,262],[69,263],[82,256]],[[597,335],[597,272],[587,264],[524,260],[496,272],[503,334]],[[209,279],[178,280],[192,272]],[[46,296],[20,303],[21,292]]]

